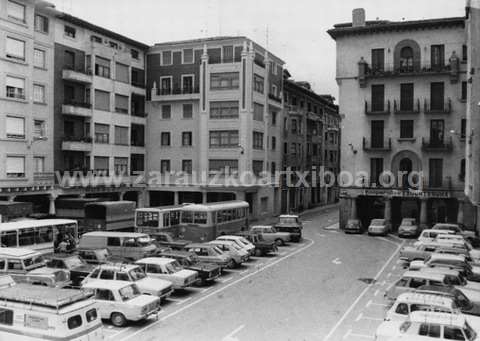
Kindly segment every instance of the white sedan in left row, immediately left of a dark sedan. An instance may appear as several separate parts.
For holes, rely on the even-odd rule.
[[[135,264],[149,277],[171,282],[174,289],[184,289],[198,281],[198,272],[184,269],[172,258],[148,257],[139,259]]]

